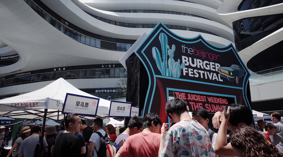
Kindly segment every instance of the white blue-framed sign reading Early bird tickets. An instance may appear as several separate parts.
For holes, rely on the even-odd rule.
[[[62,113],[77,113],[84,116],[96,116],[98,104],[98,98],[67,93]]]

